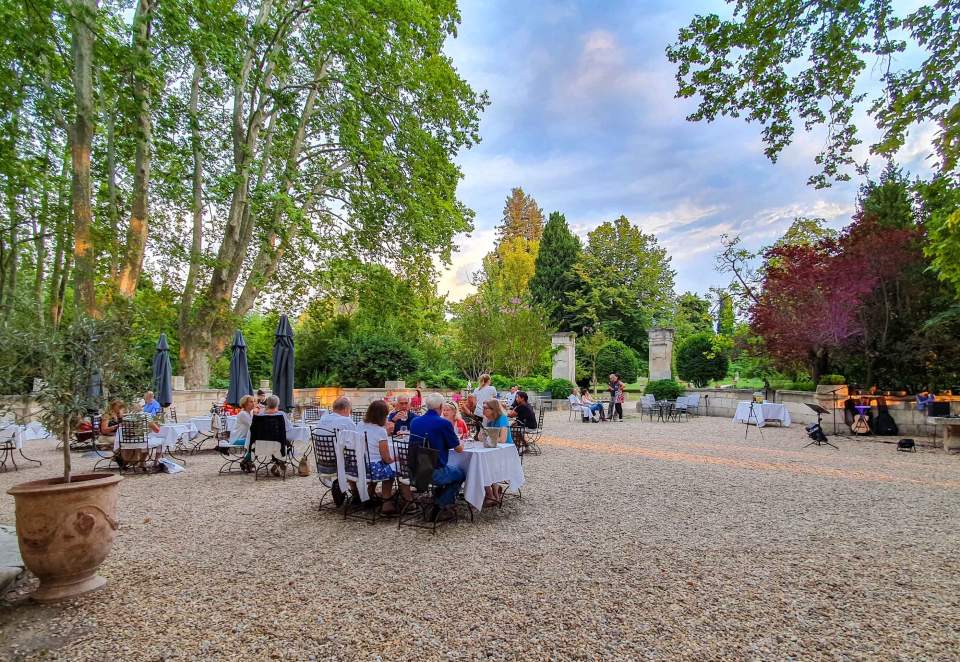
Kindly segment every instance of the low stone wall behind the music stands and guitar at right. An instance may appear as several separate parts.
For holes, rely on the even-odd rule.
[[[737,405],[744,400],[753,398],[753,389],[688,389],[686,393],[700,394],[700,413],[707,416],[720,416],[733,418],[737,410]],[[810,391],[776,391],[771,399],[773,402],[783,403],[787,411],[790,412],[790,418],[794,423],[807,425],[816,423],[817,414],[806,406],[806,403],[819,403],[821,406],[830,409],[830,398],[824,401],[817,399],[816,393]],[[943,431],[937,430],[930,419],[921,412],[917,411],[915,400],[912,397],[895,398],[887,397],[887,405],[893,420],[896,421],[900,436],[904,437],[934,437],[942,436]],[[876,407],[873,413],[877,413]],[[951,413],[960,414],[960,398],[954,396],[951,398]],[[827,434],[833,433],[833,417],[824,416],[824,429]],[[837,429],[847,431],[849,429],[843,422],[843,403],[837,403]]]

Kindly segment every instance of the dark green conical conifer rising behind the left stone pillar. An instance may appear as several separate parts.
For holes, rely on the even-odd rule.
[[[565,326],[566,306],[572,301],[572,295],[579,291],[574,273],[579,255],[580,240],[570,232],[566,217],[558,211],[552,212],[540,239],[530,294],[560,328]]]

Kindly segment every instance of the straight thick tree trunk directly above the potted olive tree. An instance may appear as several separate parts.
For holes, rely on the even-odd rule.
[[[93,29],[97,0],[72,0],[71,51],[76,117],[73,122],[73,259],[77,305],[87,314],[97,314],[96,254],[93,245],[93,208],[90,191],[90,147],[93,143]]]

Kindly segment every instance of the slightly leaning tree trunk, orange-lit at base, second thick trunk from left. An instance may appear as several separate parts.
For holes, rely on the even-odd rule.
[[[133,201],[124,264],[120,273],[120,294],[130,298],[137,291],[143,254],[147,246],[148,194],[150,192],[150,26],[156,0],[139,0],[133,16],[133,51],[136,68],[133,75],[133,96],[137,103],[137,148],[134,156]]]

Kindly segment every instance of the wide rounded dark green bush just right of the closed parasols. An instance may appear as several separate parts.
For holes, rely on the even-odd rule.
[[[396,338],[357,333],[334,341],[329,365],[343,386],[379,388],[388,380],[412,381],[420,357]]]

